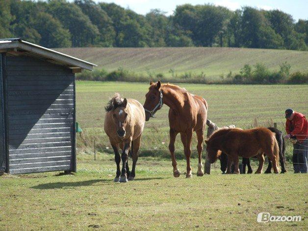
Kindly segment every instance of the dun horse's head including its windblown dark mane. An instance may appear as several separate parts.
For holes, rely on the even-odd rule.
[[[128,121],[127,99],[121,99],[116,95],[105,107],[106,111],[111,111],[112,120],[116,126],[117,135],[123,138],[126,134],[126,124]]]

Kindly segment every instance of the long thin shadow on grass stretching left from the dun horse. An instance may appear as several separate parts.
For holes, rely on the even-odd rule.
[[[84,180],[84,181],[77,181],[77,182],[54,182],[54,183],[45,183],[33,186],[31,188],[34,189],[54,189],[54,188],[73,188],[73,187],[80,187],[80,186],[89,186],[93,185],[97,182],[111,182],[113,180]]]

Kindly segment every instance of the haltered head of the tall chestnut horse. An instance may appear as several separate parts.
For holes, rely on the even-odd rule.
[[[149,92],[146,94],[146,101],[143,104],[143,108],[146,113],[146,121],[149,121],[150,117],[153,117],[155,112],[162,107],[162,92],[161,82],[150,82]]]

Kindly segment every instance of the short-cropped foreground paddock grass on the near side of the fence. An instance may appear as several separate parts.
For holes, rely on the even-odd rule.
[[[76,175],[0,177],[0,230],[307,230],[307,175],[173,178],[171,162],[140,157],[136,180],[114,183],[113,155],[78,155]],[[129,159],[131,164],[131,160]],[[216,164],[217,165],[217,164]],[[182,173],[185,161],[179,160]],[[290,165],[288,165],[290,167]],[[197,160],[192,160],[193,173]],[[256,169],[256,166],[254,166]],[[257,223],[259,212],[301,222]]]

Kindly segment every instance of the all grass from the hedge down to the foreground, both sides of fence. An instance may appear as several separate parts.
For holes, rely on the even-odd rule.
[[[208,101],[208,117],[219,126],[277,122],[283,130],[285,108],[308,112],[308,85],[181,86]],[[0,230],[307,230],[307,175],[292,174],[290,163],[288,173],[279,175],[221,175],[216,163],[211,175],[199,178],[193,158],[193,178],[174,178],[166,105],[146,123],[135,181],[114,183],[103,106],[114,92],[144,103],[147,89],[143,83],[77,82],[77,121],[83,128],[77,135],[77,174],[1,176]],[[94,140],[101,149],[97,160]],[[179,140],[178,167],[185,174]],[[257,223],[259,212],[302,216],[302,221]]]

